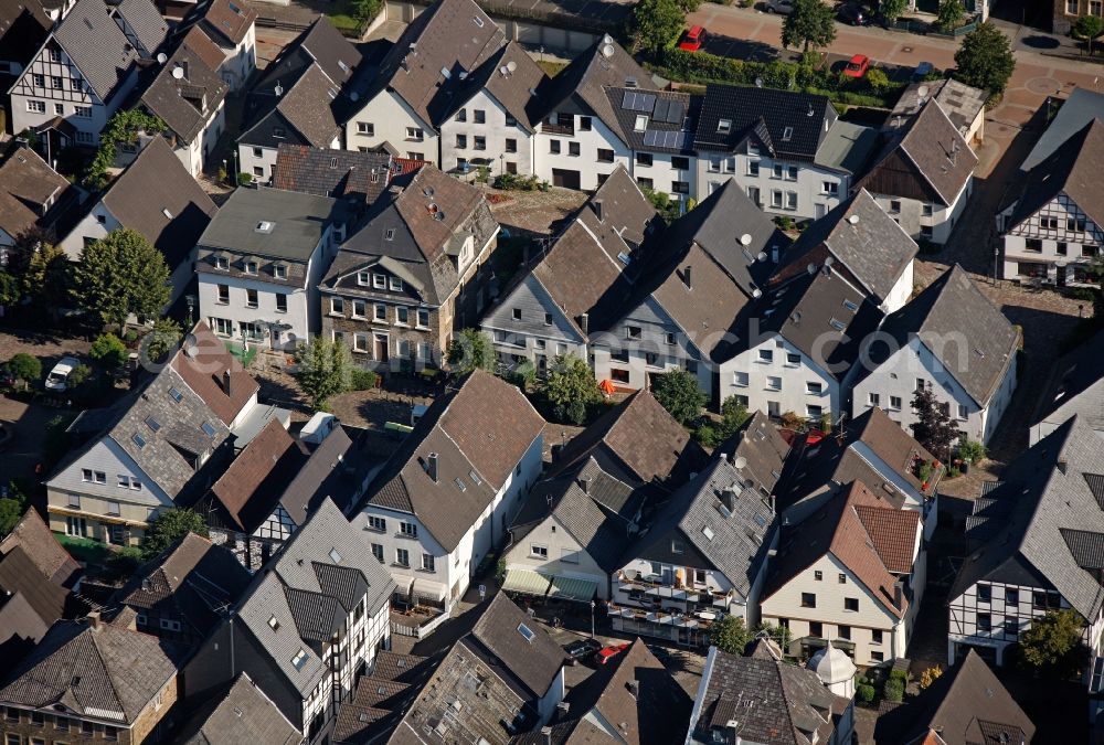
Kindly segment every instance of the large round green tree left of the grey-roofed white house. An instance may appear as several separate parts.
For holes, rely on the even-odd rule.
[[[141,233],[112,231],[85,246],[76,269],[76,300],[121,330],[127,316],[155,318],[169,301],[169,267],[164,256]]]

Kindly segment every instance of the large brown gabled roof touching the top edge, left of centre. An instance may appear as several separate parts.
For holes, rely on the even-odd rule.
[[[392,91],[424,124],[437,127],[455,110],[448,94],[464,87],[460,75],[474,73],[503,45],[506,33],[473,0],[435,2],[406,26],[362,99]]]

